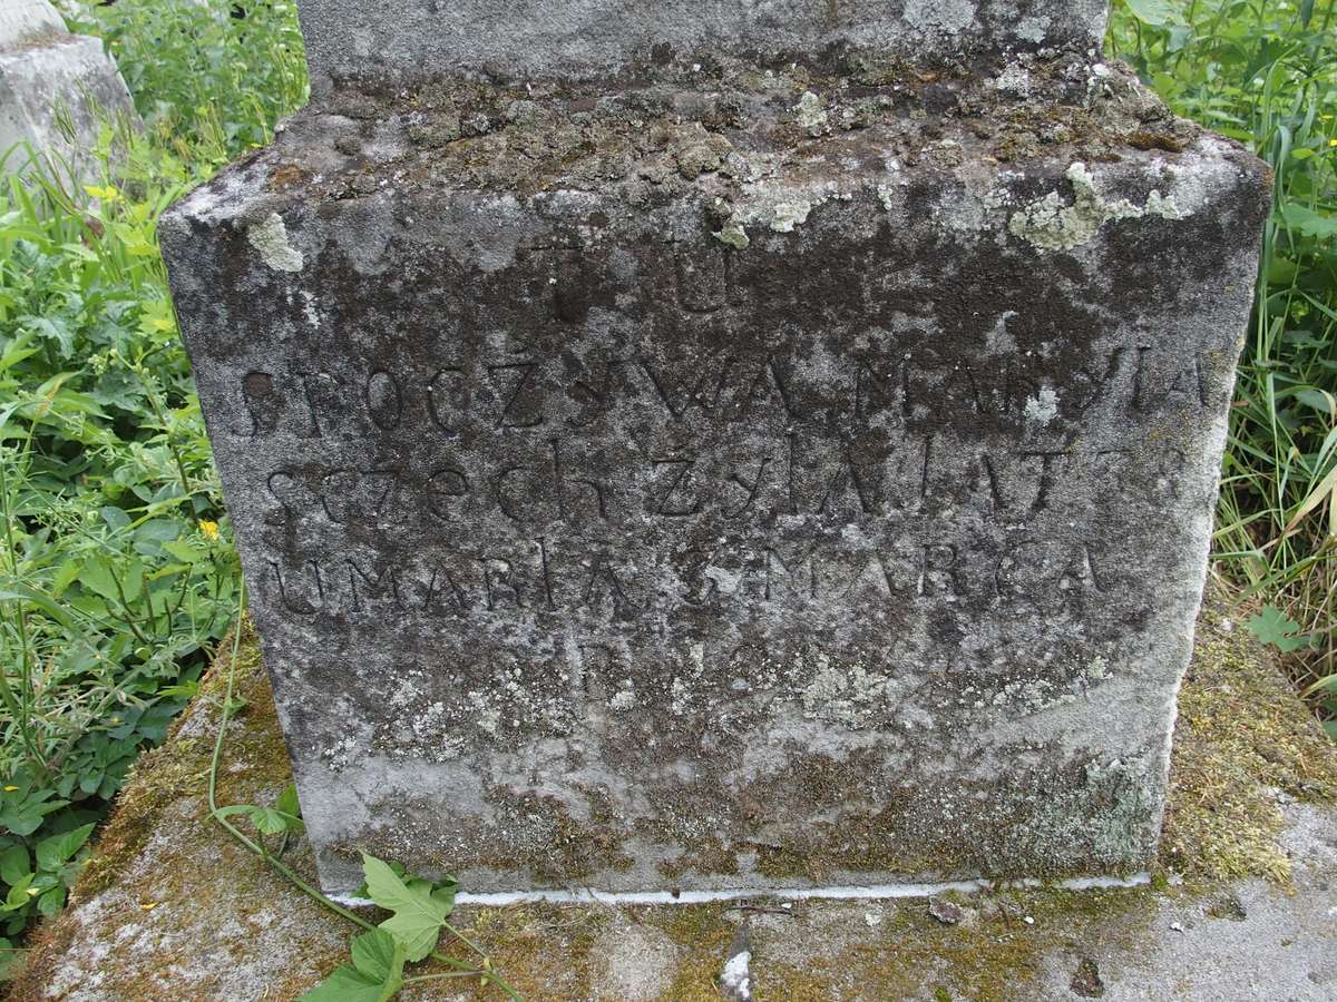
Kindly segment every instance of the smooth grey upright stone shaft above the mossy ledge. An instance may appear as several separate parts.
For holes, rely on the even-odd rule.
[[[349,76],[592,77],[721,55],[917,60],[1099,48],[1104,0],[301,0],[317,90]]]

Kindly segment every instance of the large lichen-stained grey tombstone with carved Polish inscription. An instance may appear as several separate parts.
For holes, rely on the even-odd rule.
[[[301,11],[162,240],[322,886],[1143,870],[1262,164],[1084,0]]]

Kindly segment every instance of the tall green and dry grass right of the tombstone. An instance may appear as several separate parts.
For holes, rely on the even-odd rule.
[[[1108,48],[1275,175],[1215,560],[1337,736],[1337,5],[1127,0]]]

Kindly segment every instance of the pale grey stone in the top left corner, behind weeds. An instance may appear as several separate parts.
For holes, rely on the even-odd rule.
[[[99,115],[130,116],[135,108],[126,81],[99,39],[71,35],[48,0],[0,0],[0,156],[16,172],[51,155],[76,175],[98,178],[88,155]],[[60,119],[68,114],[74,138]]]

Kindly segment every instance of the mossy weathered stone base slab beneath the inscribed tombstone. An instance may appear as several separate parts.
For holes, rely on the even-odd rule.
[[[544,1001],[717,999],[745,925],[757,999],[1071,999],[1102,990],[1096,978],[1106,999],[1332,998],[1337,752],[1229,625],[1213,612],[1199,621],[1151,887],[952,896],[957,925],[924,900],[757,899],[467,907],[461,927]],[[287,758],[258,653],[243,649],[249,705],[230,728],[221,799],[267,804]],[[353,930],[205,815],[223,681],[215,669],[136,770],[15,999],[290,999],[344,957]],[[313,874],[305,843],[286,858]],[[439,985],[404,998],[473,997]]]

